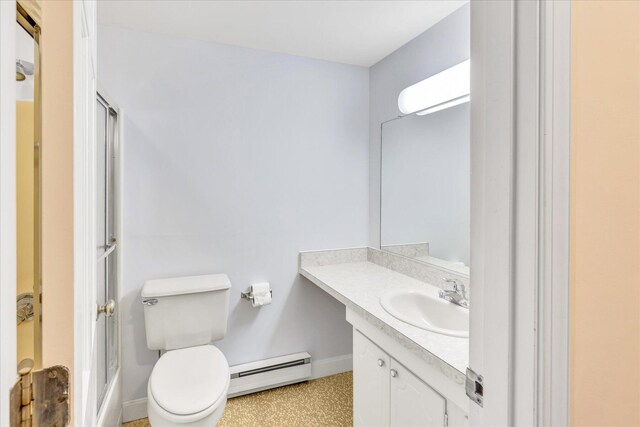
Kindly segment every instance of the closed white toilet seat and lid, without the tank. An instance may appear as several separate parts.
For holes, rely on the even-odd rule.
[[[151,372],[149,405],[166,421],[192,423],[224,408],[229,381],[229,364],[216,347],[171,350]]]

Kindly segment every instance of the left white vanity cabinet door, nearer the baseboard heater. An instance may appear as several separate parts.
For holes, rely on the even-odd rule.
[[[353,330],[353,424],[389,425],[389,356]]]

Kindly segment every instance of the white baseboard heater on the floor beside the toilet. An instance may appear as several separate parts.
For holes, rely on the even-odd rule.
[[[273,357],[232,366],[229,397],[307,381],[311,377],[311,355],[307,352]]]

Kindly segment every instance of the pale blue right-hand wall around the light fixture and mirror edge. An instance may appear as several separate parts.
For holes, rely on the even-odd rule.
[[[380,124],[400,115],[398,95],[412,84],[470,57],[466,4],[370,69],[369,244],[380,245]]]

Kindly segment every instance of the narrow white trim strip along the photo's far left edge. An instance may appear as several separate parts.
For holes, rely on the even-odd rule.
[[[16,2],[0,1],[0,425],[16,382]]]

